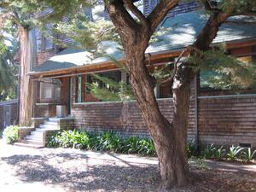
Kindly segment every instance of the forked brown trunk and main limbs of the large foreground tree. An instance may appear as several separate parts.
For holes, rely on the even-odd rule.
[[[125,3],[125,7],[124,4]],[[137,96],[137,106],[142,112],[143,120],[148,127],[154,146],[160,160],[160,175],[162,189],[173,185],[185,185],[190,182],[187,157],[187,126],[189,121],[190,83],[195,77],[197,65],[183,61],[175,67],[173,78],[173,122],[170,123],[162,113],[154,97],[154,78],[152,78],[145,64],[145,50],[154,33],[156,26],[164,19],[170,9],[178,1],[163,0],[147,18],[145,18],[130,1],[121,3],[118,0],[107,3],[108,13],[114,26],[119,32],[125,49],[125,67],[130,73],[132,88]],[[137,16],[133,20],[127,8]],[[209,49],[209,45],[216,37],[218,27],[233,11],[230,7],[225,13],[212,13],[206,26],[197,36],[196,41],[181,57],[190,55],[201,58],[201,50]],[[200,51],[199,51],[200,50]]]

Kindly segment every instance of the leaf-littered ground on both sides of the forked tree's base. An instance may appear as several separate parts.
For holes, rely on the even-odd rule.
[[[0,158],[3,169],[24,183],[60,186],[63,191],[158,191],[157,165],[99,160],[84,154],[17,154]],[[256,191],[255,172],[224,172],[191,166],[193,185],[170,191]],[[54,190],[53,190],[54,191]]]

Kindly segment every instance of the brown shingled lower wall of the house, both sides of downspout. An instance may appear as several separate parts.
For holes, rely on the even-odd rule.
[[[172,121],[172,99],[158,100],[160,110]],[[256,147],[256,96],[199,96],[198,139],[202,145],[250,144]],[[189,140],[195,139],[195,105],[189,112]],[[88,131],[121,131],[125,135],[148,137],[137,102],[75,103],[75,127]]]

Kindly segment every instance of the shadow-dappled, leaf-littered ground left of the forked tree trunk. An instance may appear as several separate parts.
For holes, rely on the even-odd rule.
[[[13,166],[16,177],[24,182],[58,184],[68,191],[157,191],[159,185],[154,165],[89,160],[81,154],[24,154],[0,160]]]

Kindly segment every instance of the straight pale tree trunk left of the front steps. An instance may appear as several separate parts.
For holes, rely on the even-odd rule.
[[[35,63],[34,33],[20,26],[20,125],[31,125],[33,113],[33,83],[27,75]]]

